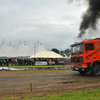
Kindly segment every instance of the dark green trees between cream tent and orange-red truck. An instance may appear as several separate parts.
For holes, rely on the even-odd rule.
[[[58,50],[56,48],[53,48],[53,49],[51,49],[51,51],[54,51],[55,53],[60,54],[63,57],[65,57],[65,56],[70,57],[70,54],[71,54],[71,50],[70,49],[65,49],[64,51],[62,51],[62,50],[60,51],[60,50]]]

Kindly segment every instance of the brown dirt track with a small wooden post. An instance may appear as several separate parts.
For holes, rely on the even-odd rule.
[[[0,71],[0,98],[100,89],[100,76],[82,76],[71,70]]]

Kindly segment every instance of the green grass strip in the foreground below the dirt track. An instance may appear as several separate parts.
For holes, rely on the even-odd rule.
[[[33,98],[5,98],[2,100],[100,100],[100,89],[75,93],[63,93],[46,97]]]

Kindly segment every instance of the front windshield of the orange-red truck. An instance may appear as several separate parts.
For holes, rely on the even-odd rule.
[[[82,54],[83,53],[83,43],[74,44],[71,46],[71,54]]]

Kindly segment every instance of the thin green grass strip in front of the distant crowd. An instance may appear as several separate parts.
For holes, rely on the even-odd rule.
[[[46,65],[46,66],[1,66],[1,67],[8,67],[8,68],[43,68],[43,67],[69,67],[71,65]]]

